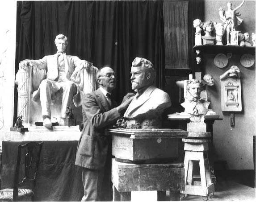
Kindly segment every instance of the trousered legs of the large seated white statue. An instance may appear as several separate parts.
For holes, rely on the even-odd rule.
[[[42,80],[39,86],[40,102],[42,107],[42,116],[50,117],[50,101],[51,95],[59,90],[63,90],[62,104],[61,104],[61,118],[66,117],[66,110],[71,106],[73,96],[76,95],[76,84],[72,81],[56,82],[49,79]]]

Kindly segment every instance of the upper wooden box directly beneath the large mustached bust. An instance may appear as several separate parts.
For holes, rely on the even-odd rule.
[[[172,162],[178,158],[179,139],[188,135],[178,129],[109,129],[112,155],[123,162]],[[127,160],[127,161],[126,161]]]

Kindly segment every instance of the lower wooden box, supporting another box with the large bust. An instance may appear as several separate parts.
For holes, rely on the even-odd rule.
[[[184,164],[130,164],[112,159],[118,192],[185,190]]]

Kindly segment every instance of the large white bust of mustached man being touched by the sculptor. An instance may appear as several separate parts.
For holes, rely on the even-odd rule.
[[[126,128],[161,128],[161,115],[171,106],[169,95],[153,86],[155,70],[145,58],[135,58],[131,66],[131,87],[137,92],[128,106],[124,119]]]

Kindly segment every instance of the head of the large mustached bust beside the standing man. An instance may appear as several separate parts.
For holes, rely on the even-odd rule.
[[[153,84],[155,70],[152,63],[145,58],[135,58],[130,70],[131,88],[135,92],[143,90]]]

